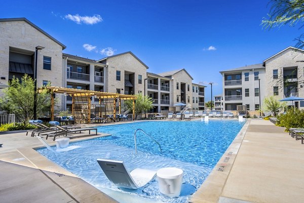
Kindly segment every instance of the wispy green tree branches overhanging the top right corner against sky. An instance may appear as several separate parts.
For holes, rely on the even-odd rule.
[[[261,23],[265,28],[271,29],[286,24],[294,26],[296,23],[304,21],[303,0],[271,0],[269,4],[271,4],[271,8],[268,18],[263,18]],[[295,39],[298,41],[296,47],[302,48],[304,46],[303,38],[304,34]]]

